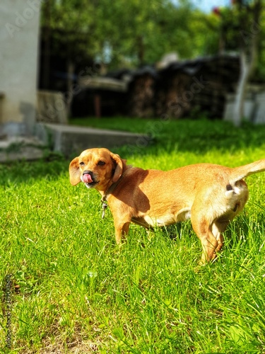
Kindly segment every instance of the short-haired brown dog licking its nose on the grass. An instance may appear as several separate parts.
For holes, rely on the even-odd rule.
[[[150,228],[190,218],[201,240],[202,263],[216,257],[223,246],[222,233],[247,202],[242,178],[261,171],[265,159],[235,169],[194,164],[167,172],[143,170],[126,165],[108,149],[85,150],[69,166],[72,185],[82,181],[110,205],[118,244],[130,222]]]

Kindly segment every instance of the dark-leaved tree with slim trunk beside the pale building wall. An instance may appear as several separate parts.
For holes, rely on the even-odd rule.
[[[86,9],[84,11],[83,9]],[[73,74],[77,58],[93,57],[98,41],[89,33],[95,29],[95,6],[88,0],[47,0],[42,7],[42,42],[44,42],[44,86],[49,88],[50,57],[61,57],[66,62],[66,109],[70,113]],[[89,48],[89,49],[88,49]]]

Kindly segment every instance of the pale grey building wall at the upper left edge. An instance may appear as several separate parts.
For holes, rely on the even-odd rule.
[[[0,129],[31,135],[35,125],[40,7],[45,0],[0,1]]]

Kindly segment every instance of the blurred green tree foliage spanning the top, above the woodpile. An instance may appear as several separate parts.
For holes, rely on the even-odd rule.
[[[257,1],[257,0],[256,0]],[[237,1],[240,3],[240,1]],[[262,2],[262,1],[261,1]],[[237,51],[240,43],[259,37],[258,76],[264,78],[264,8],[257,23],[252,7],[234,4],[203,13],[191,1],[68,0],[45,1],[42,39],[47,28],[52,54],[73,64],[89,59],[118,67],[159,62],[177,52],[180,59]],[[257,79],[257,76],[256,76]]]

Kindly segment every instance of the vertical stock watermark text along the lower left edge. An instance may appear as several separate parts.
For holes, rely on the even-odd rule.
[[[11,311],[12,311],[12,275],[6,275],[4,279],[4,316],[6,317],[6,347],[11,349],[12,332],[11,332]]]

